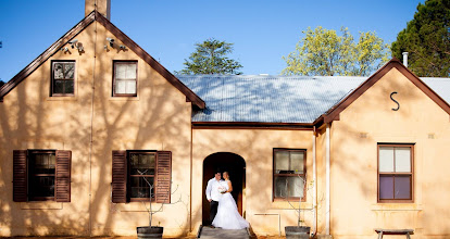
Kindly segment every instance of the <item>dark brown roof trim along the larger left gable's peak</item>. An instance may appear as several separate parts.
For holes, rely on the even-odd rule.
[[[172,73],[170,73],[164,66],[162,66],[158,61],[155,61],[149,53],[147,53],[142,48],[140,48],[135,41],[133,41],[128,36],[122,33],[116,26],[114,26],[109,20],[107,20],[102,14],[97,11],[92,11],[84,20],[82,20],[77,25],[75,25],[71,30],[68,30],[64,36],[58,39],[50,48],[43,51],[38,58],[36,58],[32,63],[29,63],[24,70],[22,70],[17,75],[15,75],[10,81],[3,85],[0,88],[0,102],[3,100],[3,97],[8,95],[12,89],[14,89],[22,80],[29,76],[35,70],[37,70],[43,62],[51,58],[54,53],[58,52],[63,46],[65,46],[71,39],[76,35],[82,33],[87,26],[97,21],[103,25],[108,30],[110,30],[117,39],[120,39],[128,49],[134,51],[139,58],[141,58],[147,64],[149,64],[153,70],[161,74],[168,83],[171,83],[175,88],[186,96],[188,102],[192,102],[200,109],[204,109],[204,101],[198,97],[192,90],[186,87],[182,81],[179,81]]]

